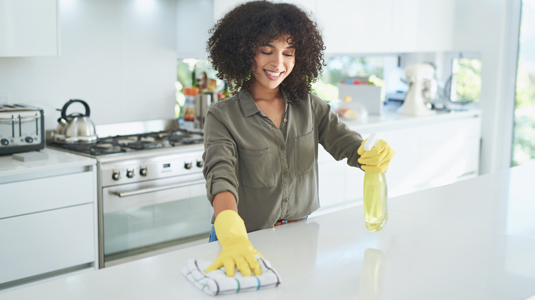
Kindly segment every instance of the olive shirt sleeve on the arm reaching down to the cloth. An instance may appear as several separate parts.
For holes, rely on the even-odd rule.
[[[237,147],[228,128],[217,118],[212,108],[204,121],[203,174],[206,179],[206,195],[213,203],[219,192],[232,192],[238,201],[236,177]]]

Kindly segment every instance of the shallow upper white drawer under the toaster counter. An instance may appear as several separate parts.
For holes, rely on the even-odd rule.
[[[1,184],[0,218],[93,203],[95,183],[95,173],[84,172]]]

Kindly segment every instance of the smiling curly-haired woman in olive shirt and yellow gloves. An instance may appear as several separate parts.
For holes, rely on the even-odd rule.
[[[219,79],[239,92],[212,105],[204,123],[211,240],[217,234],[222,245],[206,272],[225,266],[233,276],[236,266],[243,275],[251,269],[259,275],[259,253],[247,232],[306,218],[320,207],[318,144],[336,160],[376,172],[385,171],[394,151],[384,141],[358,151],[361,135],[310,93],[322,73],[324,45],[316,23],[296,5],[238,5],[211,29],[207,50]]]

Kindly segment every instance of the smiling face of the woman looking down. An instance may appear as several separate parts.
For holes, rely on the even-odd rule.
[[[296,49],[287,42],[288,37],[281,36],[256,49],[252,70],[256,80],[251,88],[278,88],[292,72],[296,63]]]

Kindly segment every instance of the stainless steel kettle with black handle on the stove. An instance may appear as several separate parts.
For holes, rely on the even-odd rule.
[[[75,102],[84,105],[85,114],[76,113],[67,116],[67,108]],[[58,118],[58,129],[54,133],[54,141],[64,144],[91,144],[97,142],[95,124],[89,118],[89,114],[89,105],[85,101],[80,99],[67,101],[61,109],[61,118]]]

